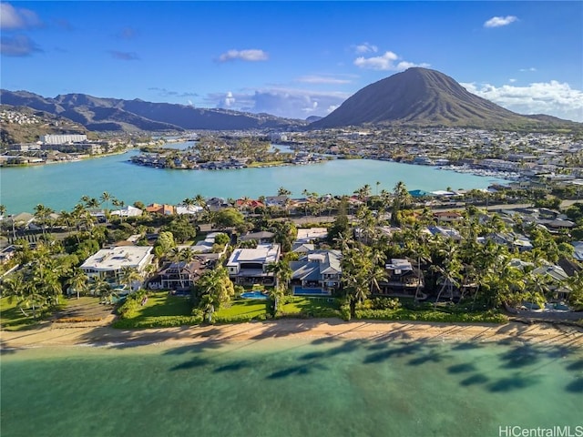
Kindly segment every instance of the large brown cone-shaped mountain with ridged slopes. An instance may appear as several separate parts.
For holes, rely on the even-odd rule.
[[[528,128],[549,123],[544,117],[521,116],[477,97],[443,73],[413,67],[363,87],[310,127],[370,124]]]

